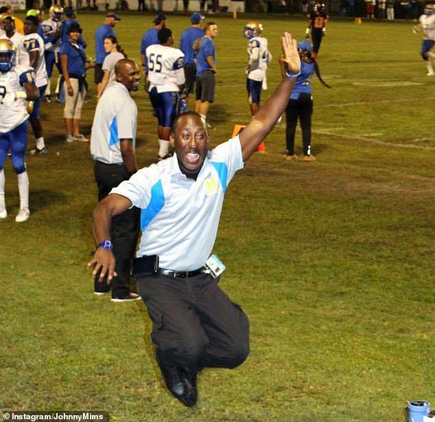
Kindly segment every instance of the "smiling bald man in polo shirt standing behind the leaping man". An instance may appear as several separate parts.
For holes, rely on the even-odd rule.
[[[132,60],[122,59],[115,65],[116,82],[104,91],[97,104],[91,133],[91,155],[95,160],[95,180],[98,200],[111,189],[137,172],[134,144],[136,141],[137,106],[130,92],[137,91],[140,73]],[[112,290],[112,301],[139,299],[130,292],[130,263],[139,235],[139,209],[133,207],[113,218],[110,243],[116,257],[117,277],[111,286],[97,274],[94,292],[97,295]]]

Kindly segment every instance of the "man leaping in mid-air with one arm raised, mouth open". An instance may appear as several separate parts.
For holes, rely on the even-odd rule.
[[[241,134],[209,151],[200,115],[181,114],[170,137],[176,154],[139,170],[93,213],[99,247],[89,266],[110,280],[116,265],[104,247],[110,220],[141,208],[143,235],[133,274],[152,319],[151,339],[167,388],[185,406],[196,403],[202,368],[235,368],[249,353],[248,318],[217,285],[223,266],[209,255],[228,183],[276,124],[300,73],[296,41],[286,33],[281,43],[285,76]]]

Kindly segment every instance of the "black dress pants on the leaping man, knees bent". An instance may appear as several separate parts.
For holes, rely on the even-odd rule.
[[[191,371],[235,368],[248,357],[248,317],[209,274],[136,277],[152,320],[151,340],[167,364]]]

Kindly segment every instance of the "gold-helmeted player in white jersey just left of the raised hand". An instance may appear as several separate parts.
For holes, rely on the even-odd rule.
[[[261,36],[262,32],[263,25],[259,22],[250,22],[244,29],[244,37],[248,38],[246,89],[251,116],[260,108],[261,88],[267,89],[266,71],[272,60],[272,54],[268,50],[268,40]]]

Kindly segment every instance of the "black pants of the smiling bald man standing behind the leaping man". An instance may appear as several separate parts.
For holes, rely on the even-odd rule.
[[[113,187],[130,178],[130,174],[124,165],[106,164],[95,161],[95,181],[98,187],[98,200],[106,198]],[[132,207],[124,213],[115,215],[112,219],[110,237],[113,242],[113,255],[115,255],[115,271],[117,277],[112,280],[112,296],[124,297],[130,293],[130,269],[131,260],[136,250],[137,238],[139,237],[139,220],[141,210]],[[95,276],[95,292],[106,292],[109,286],[104,281],[99,281],[99,274]]]

